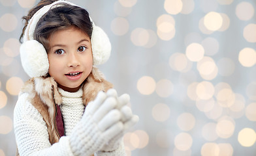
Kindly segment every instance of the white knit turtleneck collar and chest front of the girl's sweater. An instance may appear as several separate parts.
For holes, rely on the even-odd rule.
[[[65,125],[65,135],[71,135],[72,129],[80,121],[84,114],[84,104],[82,103],[82,88],[78,92],[65,92],[58,88],[62,96],[61,114]]]

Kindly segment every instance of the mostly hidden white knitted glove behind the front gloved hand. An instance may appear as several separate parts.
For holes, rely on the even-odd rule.
[[[116,90],[111,89],[106,93],[109,97],[117,97]],[[121,122],[123,122],[123,131],[121,131],[118,135],[114,136],[107,144],[101,148],[101,151],[114,151],[121,146],[121,142],[123,139],[123,135],[127,132],[127,130],[135,125],[138,122],[138,116],[134,115],[131,108],[127,106],[130,101],[130,97],[128,94],[123,94],[118,99],[117,108],[121,111]],[[101,152],[99,151],[99,153]]]

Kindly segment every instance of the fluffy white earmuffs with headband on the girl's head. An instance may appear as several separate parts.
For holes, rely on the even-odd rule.
[[[64,0],[59,0],[50,5],[46,5],[34,14],[27,24],[24,32],[24,43],[20,46],[20,57],[22,60],[22,66],[29,77],[46,76],[48,73],[49,61],[46,49],[44,49],[44,46],[37,42],[33,36],[39,19],[46,14],[48,10],[62,6],[61,3],[74,5]],[[91,22],[93,23],[92,20]],[[96,26],[94,23],[93,32],[91,34],[91,49],[93,51],[94,65],[103,64],[110,57],[110,40],[103,29]]]

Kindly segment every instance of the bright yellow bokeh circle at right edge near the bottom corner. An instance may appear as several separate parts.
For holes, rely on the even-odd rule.
[[[244,128],[238,133],[238,142],[245,147],[250,147],[255,144],[256,133],[251,128]]]

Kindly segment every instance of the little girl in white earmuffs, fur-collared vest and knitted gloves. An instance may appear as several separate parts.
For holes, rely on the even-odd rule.
[[[63,0],[42,0],[24,19],[20,56],[31,79],[14,109],[16,154],[125,155],[138,116],[93,66],[110,55],[104,31]]]

